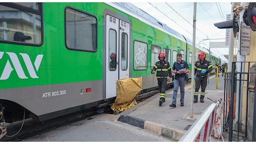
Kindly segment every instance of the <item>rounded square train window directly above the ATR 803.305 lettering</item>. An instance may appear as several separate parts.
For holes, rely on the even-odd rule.
[[[97,19],[90,14],[66,8],[65,28],[68,49],[96,52]]]

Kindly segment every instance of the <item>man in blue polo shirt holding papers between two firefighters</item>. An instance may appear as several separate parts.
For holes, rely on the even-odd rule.
[[[189,73],[189,65],[185,60],[182,60],[182,54],[177,54],[177,61],[173,64],[174,78],[174,90],[173,90],[173,102],[170,107],[176,107],[176,98],[178,89],[180,86],[180,106],[184,106],[184,94],[185,94],[185,81],[186,74]]]

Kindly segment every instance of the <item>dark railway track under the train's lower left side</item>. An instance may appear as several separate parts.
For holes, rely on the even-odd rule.
[[[47,120],[41,123],[35,122],[32,119],[28,119],[24,121],[24,126],[22,127],[22,131],[19,132],[16,136],[9,137],[9,135],[13,135],[19,130],[19,126],[21,126],[21,121],[9,124],[11,127],[7,127],[7,136],[4,136],[0,141],[3,142],[19,142],[26,138],[40,135],[41,133],[45,133],[51,130],[54,130],[58,127],[68,126],[74,122],[81,120],[90,120],[91,116],[98,115],[99,109],[87,109],[85,111],[75,112],[70,115],[57,117],[56,119]],[[8,125],[8,124],[7,124]],[[9,129],[9,131],[8,131]]]

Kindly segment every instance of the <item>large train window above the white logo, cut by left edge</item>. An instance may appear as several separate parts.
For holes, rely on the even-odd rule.
[[[18,44],[42,42],[42,3],[1,3],[0,41]]]

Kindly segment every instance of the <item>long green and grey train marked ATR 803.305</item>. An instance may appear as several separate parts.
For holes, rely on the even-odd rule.
[[[188,38],[131,3],[0,3],[0,120],[111,104],[119,79],[154,88],[160,52],[171,65],[183,54],[191,68],[201,50],[193,56]]]

